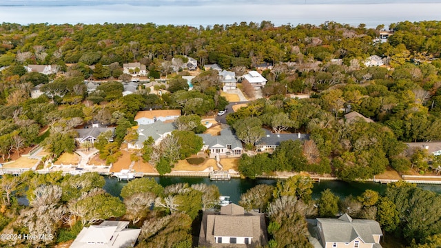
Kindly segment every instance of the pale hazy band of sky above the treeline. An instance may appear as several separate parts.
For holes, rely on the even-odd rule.
[[[368,27],[398,21],[441,20],[441,0],[0,0],[0,22],[156,23],[214,25],[241,21],[320,24],[337,21]]]

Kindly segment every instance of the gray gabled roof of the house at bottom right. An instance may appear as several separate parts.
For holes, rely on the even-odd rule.
[[[373,235],[382,235],[380,224],[375,220],[353,220],[343,214],[340,218],[317,218],[321,223],[325,242],[351,242],[360,238],[365,243],[376,243]]]

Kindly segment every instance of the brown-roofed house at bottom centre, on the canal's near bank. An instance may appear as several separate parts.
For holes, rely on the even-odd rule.
[[[234,203],[220,212],[205,211],[199,233],[200,247],[264,247],[267,245],[265,215],[245,213]]]

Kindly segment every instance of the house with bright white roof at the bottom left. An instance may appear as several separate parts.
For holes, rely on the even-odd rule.
[[[105,220],[100,225],[83,227],[70,247],[134,247],[141,229],[130,229],[128,225],[128,221]]]

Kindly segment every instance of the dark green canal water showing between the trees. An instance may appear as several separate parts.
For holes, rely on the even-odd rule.
[[[168,177],[168,176],[156,176],[154,177],[157,183],[166,187],[175,183],[188,183],[189,185],[197,183],[205,183],[207,185],[216,185],[219,188],[220,195],[230,196],[233,203],[238,203],[240,195],[245,193],[248,189],[259,185],[276,185],[277,180],[269,179],[232,179],[229,181],[212,181],[209,178],[195,178],[195,177]],[[127,185],[125,181],[118,181],[114,177],[105,178],[104,189],[112,194],[112,196],[119,196],[121,189],[124,185]],[[433,192],[441,193],[441,185],[418,185],[422,189],[427,189]],[[320,183],[314,183],[312,198],[319,198],[320,192],[325,189],[331,189],[334,194],[340,197],[345,196],[359,196],[366,189],[372,189],[380,194],[386,189],[386,185],[379,183],[356,183],[356,182],[342,182],[339,180],[322,180]]]

